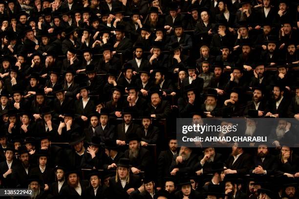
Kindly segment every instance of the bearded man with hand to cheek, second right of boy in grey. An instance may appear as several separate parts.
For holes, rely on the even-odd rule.
[[[239,65],[238,65],[239,66]],[[225,92],[229,92],[229,90],[237,87],[241,91],[248,90],[248,81],[244,77],[244,71],[242,66],[232,67],[232,73],[230,74],[230,80],[225,85]]]

